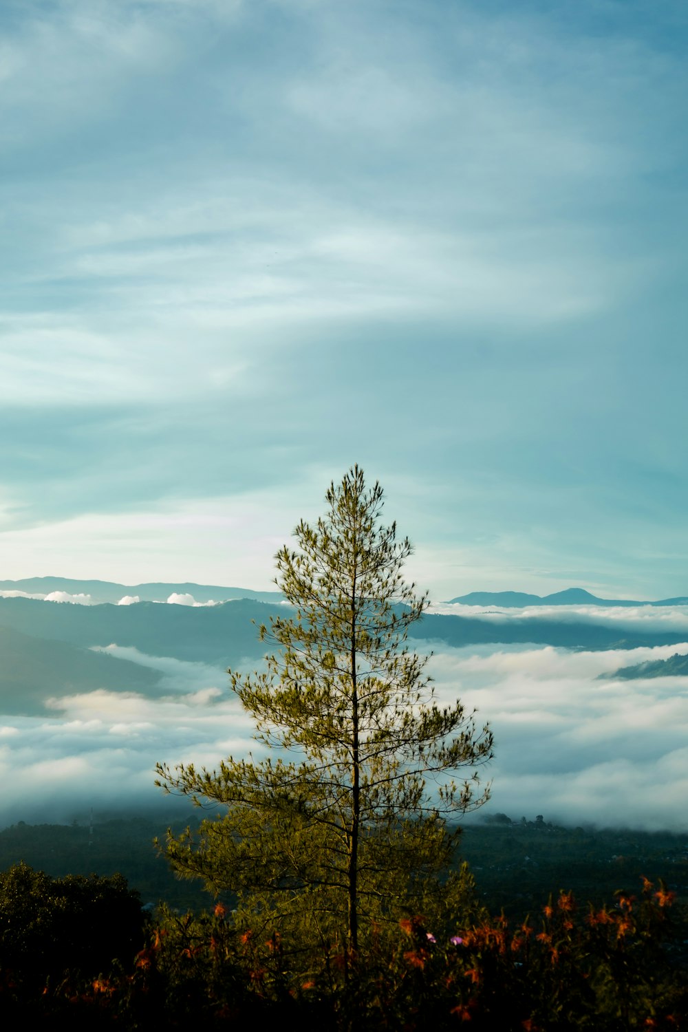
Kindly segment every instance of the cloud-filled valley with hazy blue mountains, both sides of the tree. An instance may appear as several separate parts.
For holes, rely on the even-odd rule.
[[[58,578],[0,591],[0,823],[155,809],[156,762],[262,754],[226,668],[261,668],[256,624],[284,612],[279,592]],[[494,730],[487,815],[686,827],[688,605],[440,603],[409,645],[433,652],[439,700]]]

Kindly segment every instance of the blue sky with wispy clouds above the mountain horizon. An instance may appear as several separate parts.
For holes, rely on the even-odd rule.
[[[435,599],[688,593],[688,11],[0,9],[0,577],[269,586],[353,462]]]

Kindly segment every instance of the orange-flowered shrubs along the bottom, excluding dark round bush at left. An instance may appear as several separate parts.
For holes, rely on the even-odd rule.
[[[304,1030],[676,1032],[688,1030],[688,979],[674,910],[674,894],[645,879],[602,908],[559,893],[514,926],[479,911],[449,929],[411,915],[360,956],[336,942],[301,953],[276,933],[236,927],[221,904],[198,916],[166,911],[133,969],[40,990],[5,971],[0,1006],[23,1020],[64,1015],[70,1029],[293,1019]]]

